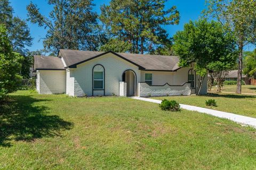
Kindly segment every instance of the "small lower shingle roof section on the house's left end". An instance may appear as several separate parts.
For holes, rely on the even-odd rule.
[[[59,57],[53,56],[34,56],[35,70],[65,70],[64,65]]]

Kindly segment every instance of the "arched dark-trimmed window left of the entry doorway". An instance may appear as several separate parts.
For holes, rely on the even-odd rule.
[[[93,90],[105,89],[105,69],[102,65],[97,64],[93,67]]]

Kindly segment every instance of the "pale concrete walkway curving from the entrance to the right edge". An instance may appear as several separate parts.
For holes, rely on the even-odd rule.
[[[150,98],[142,98],[142,97],[131,97],[131,98],[137,99],[137,100],[149,101],[157,104],[161,104],[162,102],[162,100],[156,100],[156,99],[150,99]],[[213,109],[197,107],[197,106],[180,104],[180,107],[188,111],[196,111],[196,112],[206,113],[206,114],[221,117],[221,118],[227,118],[228,120],[237,122],[239,124],[249,125],[249,126],[252,126],[253,128],[256,128],[256,118],[237,115],[237,114],[228,113],[228,112],[215,111]]]

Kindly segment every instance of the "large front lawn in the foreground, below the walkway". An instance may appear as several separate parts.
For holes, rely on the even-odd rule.
[[[129,98],[10,98],[0,107],[1,169],[256,168],[255,130],[228,120]]]

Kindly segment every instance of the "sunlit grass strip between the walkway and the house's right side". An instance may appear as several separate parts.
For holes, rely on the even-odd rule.
[[[211,108],[223,112],[231,112],[239,115],[256,117],[256,96],[237,95],[226,93],[210,93],[204,96],[169,96],[154,97],[154,99],[170,99],[176,100],[181,104]],[[215,99],[217,107],[206,106],[205,100]]]

